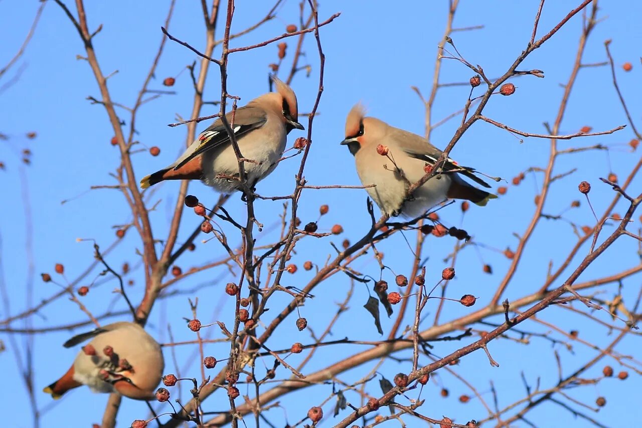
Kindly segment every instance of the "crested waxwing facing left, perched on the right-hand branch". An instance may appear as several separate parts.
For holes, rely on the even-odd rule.
[[[440,175],[432,177],[406,200],[406,190],[426,175],[424,166],[435,165],[443,152],[425,138],[391,127],[384,121],[365,117],[360,104],[352,107],[345,121],[345,139],[356,163],[356,170],[383,213],[417,217],[446,199],[466,199],[485,206],[497,196],[478,189],[461,175],[482,186],[490,186],[474,175],[473,168],[460,166],[448,158]],[[383,146],[377,151],[377,146]]]

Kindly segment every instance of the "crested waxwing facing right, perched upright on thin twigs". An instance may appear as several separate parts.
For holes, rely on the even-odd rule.
[[[245,107],[225,115],[245,159],[247,183],[256,183],[276,168],[285,150],[286,137],[293,129],[304,129],[298,121],[297,96],[290,86],[272,76],[277,91],[263,94]],[[220,118],[205,129],[178,159],[167,168],[147,175],[141,188],[164,180],[199,179],[222,193],[238,190],[239,167],[234,147]]]

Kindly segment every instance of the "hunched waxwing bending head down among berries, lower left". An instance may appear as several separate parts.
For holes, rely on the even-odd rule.
[[[160,345],[138,324],[114,323],[76,335],[64,343],[71,348],[91,339],[71,368],[43,391],[55,400],[81,385],[94,392],[118,392],[135,400],[152,400],[165,362]]]

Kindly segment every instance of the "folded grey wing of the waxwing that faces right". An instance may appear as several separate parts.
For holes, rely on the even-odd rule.
[[[267,121],[265,111],[257,107],[241,107],[237,109],[236,112],[229,112],[225,117],[230,125],[232,125],[232,132],[234,132],[234,136],[236,136],[237,139],[252,130],[262,127]],[[199,134],[196,141],[194,141],[183,156],[178,159],[174,170],[178,170],[178,168],[185,165],[191,159],[207,152],[207,150],[221,147],[221,145],[225,145],[229,143],[229,141],[230,137],[225,130],[223,121],[217,119]]]

